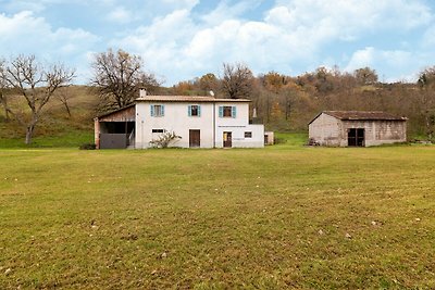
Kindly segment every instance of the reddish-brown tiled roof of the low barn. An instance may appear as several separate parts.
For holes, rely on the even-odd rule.
[[[407,121],[406,117],[396,116],[382,111],[323,111],[309,124],[316,119],[321,114],[326,114],[341,121]]]

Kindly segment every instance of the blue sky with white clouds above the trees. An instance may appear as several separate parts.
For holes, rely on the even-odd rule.
[[[0,0],[0,58],[35,54],[89,84],[96,53],[140,55],[163,86],[241,63],[254,75],[369,66],[414,81],[435,65],[432,0]]]

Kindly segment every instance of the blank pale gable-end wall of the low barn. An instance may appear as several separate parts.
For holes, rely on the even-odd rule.
[[[341,146],[344,136],[340,121],[324,113],[320,114],[309,125],[309,138],[321,146]]]

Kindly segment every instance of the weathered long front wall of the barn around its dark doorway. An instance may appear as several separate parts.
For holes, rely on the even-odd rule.
[[[364,146],[380,146],[407,141],[407,123],[405,121],[344,121],[340,146],[347,146],[347,130],[364,128]]]

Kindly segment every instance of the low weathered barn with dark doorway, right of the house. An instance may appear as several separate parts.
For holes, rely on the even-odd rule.
[[[310,143],[370,147],[406,142],[407,118],[384,112],[324,111],[309,123]]]

